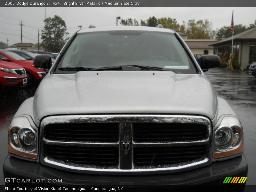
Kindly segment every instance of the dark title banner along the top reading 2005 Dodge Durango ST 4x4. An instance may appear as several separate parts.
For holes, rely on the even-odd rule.
[[[255,7],[255,0],[6,0],[0,7]],[[218,14],[218,13],[216,13]]]

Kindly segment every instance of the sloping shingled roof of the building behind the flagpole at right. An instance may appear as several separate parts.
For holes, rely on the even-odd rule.
[[[233,39],[234,40],[256,39],[256,27],[252,28],[252,29],[249,29],[247,31],[244,31],[242,33],[239,33],[237,35],[234,35]],[[228,37],[226,39],[223,39],[221,41],[218,41],[214,44],[211,44],[210,46],[217,45],[217,44],[222,44],[222,43],[228,43],[229,41],[232,41],[232,36]]]

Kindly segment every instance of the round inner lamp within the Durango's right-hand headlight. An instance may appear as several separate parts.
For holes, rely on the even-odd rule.
[[[215,147],[226,150],[233,142],[233,131],[229,127],[220,127],[215,131]]]

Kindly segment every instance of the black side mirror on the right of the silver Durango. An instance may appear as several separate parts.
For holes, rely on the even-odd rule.
[[[199,65],[204,72],[208,71],[209,68],[219,67],[220,57],[218,55],[202,55]]]

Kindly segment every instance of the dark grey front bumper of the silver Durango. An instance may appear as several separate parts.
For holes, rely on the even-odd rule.
[[[246,177],[248,165],[244,155],[214,162],[211,165],[180,173],[155,175],[96,175],[73,173],[7,156],[4,166],[4,178],[20,179],[62,179],[55,185],[87,186],[163,186],[163,185],[228,185],[223,184],[226,177]],[[5,182],[6,185],[17,184]],[[18,183],[28,185],[28,183]],[[40,183],[37,183],[40,184]],[[42,184],[42,183],[41,183]],[[47,183],[43,183],[47,184]],[[242,185],[242,184],[237,184]]]

